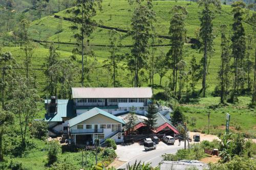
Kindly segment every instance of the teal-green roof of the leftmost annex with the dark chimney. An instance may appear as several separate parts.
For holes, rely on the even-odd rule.
[[[45,104],[51,100],[45,100]],[[73,100],[57,100],[57,113],[45,114],[46,122],[62,122],[62,117],[75,117]]]

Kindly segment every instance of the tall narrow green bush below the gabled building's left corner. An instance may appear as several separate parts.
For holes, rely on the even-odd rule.
[[[52,140],[49,142],[49,149],[48,149],[48,165],[53,164],[58,160],[58,154],[60,151],[60,144],[57,140]]]

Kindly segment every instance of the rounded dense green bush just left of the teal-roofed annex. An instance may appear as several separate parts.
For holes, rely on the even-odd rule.
[[[44,140],[47,137],[48,125],[42,120],[33,121],[30,126],[30,132],[33,137]]]

